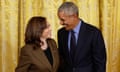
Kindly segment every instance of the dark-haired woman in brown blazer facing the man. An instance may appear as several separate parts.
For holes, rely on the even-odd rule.
[[[50,24],[44,17],[32,17],[25,32],[15,72],[57,72],[59,56],[56,42],[50,38]]]

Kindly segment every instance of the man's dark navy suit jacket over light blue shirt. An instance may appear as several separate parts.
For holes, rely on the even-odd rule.
[[[58,31],[61,72],[105,72],[106,50],[100,30],[81,20],[74,62],[68,51],[68,31]]]

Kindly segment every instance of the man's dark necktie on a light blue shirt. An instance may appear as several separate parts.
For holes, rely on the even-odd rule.
[[[76,48],[76,38],[75,38],[75,32],[71,31],[71,41],[70,41],[70,55],[72,58],[72,62],[74,61],[74,54],[75,54],[75,48]]]

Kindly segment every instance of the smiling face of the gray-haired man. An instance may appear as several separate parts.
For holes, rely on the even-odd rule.
[[[58,13],[60,24],[65,27],[66,30],[71,30],[75,27],[74,15],[66,15],[63,11]]]

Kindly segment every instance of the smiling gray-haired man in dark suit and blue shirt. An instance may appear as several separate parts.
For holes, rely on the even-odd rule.
[[[60,24],[58,47],[60,72],[105,72],[106,50],[99,29],[79,19],[78,7],[72,2],[58,9]]]

